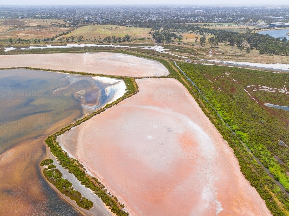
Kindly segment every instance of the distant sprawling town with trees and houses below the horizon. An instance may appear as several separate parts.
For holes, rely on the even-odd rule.
[[[234,23],[287,27],[288,7],[193,6],[1,6],[0,19],[63,19],[69,26],[93,24],[147,27],[162,23]]]

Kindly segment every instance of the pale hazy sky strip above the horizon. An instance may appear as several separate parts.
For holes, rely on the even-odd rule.
[[[148,5],[148,4],[188,4],[188,5],[276,5],[276,4],[286,4],[289,5],[289,0],[205,0],[205,1],[195,1],[195,0],[69,0],[69,1],[59,1],[59,0],[49,0],[49,1],[39,1],[39,0],[10,0],[0,2],[0,5]]]

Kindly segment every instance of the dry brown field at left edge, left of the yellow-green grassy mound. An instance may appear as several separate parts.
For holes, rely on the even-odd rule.
[[[42,39],[42,38],[51,38],[59,33],[68,31],[72,28],[62,28],[56,26],[47,26],[47,27],[36,27],[36,28],[24,28],[24,29],[16,29],[14,31],[7,31],[0,33],[0,39],[8,39],[12,37],[16,39],[18,37],[24,39]]]

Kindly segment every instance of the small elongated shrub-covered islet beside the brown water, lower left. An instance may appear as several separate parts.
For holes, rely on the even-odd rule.
[[[76,204],[83,209],[91,209],[93,203],[81,196],[79,191],[75,191],[70,181],[62,178],[62,173],[55,169],[56,166],[52,164],[52,159],[45,159],[40,163],[40,166],[48,166],[43,170],[43,174],[47,181],[53,184],[62,194],[75,200]]]

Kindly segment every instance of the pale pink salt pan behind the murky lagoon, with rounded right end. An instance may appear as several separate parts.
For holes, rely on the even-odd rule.
[[[8,67],[36,67],[134,77],[169,74],[158,61],[110,52],[1,55],[0,68]]]

